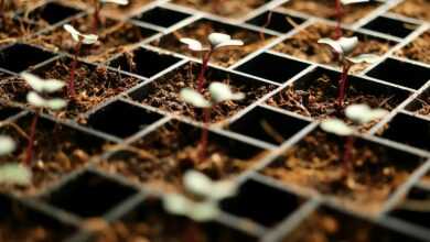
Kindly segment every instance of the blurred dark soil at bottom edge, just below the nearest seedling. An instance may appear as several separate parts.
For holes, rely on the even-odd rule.
[[[254,241],[218,223],[196,223],[185,218],[166,215],[155,200],[147,200],[121,221],[107,224],[96,221],[95,242],[235,242]],[[98,224],[97,224],[98,223]],[[94,223],[93,223],[94,224]],[[90,226],[93,227],[93,226]]]

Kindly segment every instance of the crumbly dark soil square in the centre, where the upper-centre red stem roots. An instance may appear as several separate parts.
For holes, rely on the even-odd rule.
[[[148,94],[141,102],[201,121],[202,110],[196,109],[191,105],[186,105],[179,97],[182,88],[197,88],[196,78],[198,72],[200,65],[190,63],[189,65],[184,65],[171,74],[157,79],[147,87]],[[246,79],[240,79],[241,77],[238,76],[232,78],[229,75],[219,75],[215,69],[209,69],[206,77],[207,85],[213,81],[225,82],[228,84],[234,91],[241,91],[246,95],[244,100],[226,101],[214,107],[211,112],[211,122],[218,122],[234,116],[275,89],[275,86],[272,85],[259,81],[247,81]],[[207,90],[205,90],[205,96],[209,99]]]

